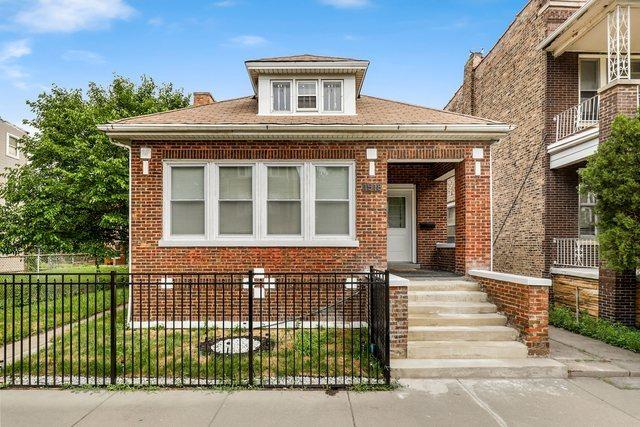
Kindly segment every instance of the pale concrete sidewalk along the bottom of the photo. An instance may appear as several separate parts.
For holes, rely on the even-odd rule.
[[[362,393],[2,390],[0,425],[640,426],[640,379],[624,380],[423,380]]]

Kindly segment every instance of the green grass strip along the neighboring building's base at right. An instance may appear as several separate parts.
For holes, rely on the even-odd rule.
[[[640,330],[636,328],[599,319],[586,312],[581,313],[576,320],[574,311],[561,306],[551,307],[549,323],[558,328],[640,353]]]

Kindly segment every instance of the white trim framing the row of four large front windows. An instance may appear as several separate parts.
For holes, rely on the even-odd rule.
[[[267,167],[299,166],[301,179],[301,235],[267,234]],[[205,234],[202,236],[171,235],[171,168],[175,166],[205,167]],[[218,174],[221,166],[253,166],[253,235],[220,235]],[[315,235],[315,167],[345,166],[349,168],[349,234]],[[355,162],[322,161],[192,161],[163,162],[163,232],[160,247],[358,247],[356,240]]]

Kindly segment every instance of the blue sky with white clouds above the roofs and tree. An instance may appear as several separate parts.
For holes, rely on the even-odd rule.
[[[363,92],[441,108],[470,50],[491,48],[525,0],[0,0],[0,116],[55,83],[147,74],[245,96],[246,59],[369,59]]]

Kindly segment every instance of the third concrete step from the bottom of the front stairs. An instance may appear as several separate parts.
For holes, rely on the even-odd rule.
[[[409,341],[513,341],[518,331],[506,326],[409,326]]]

